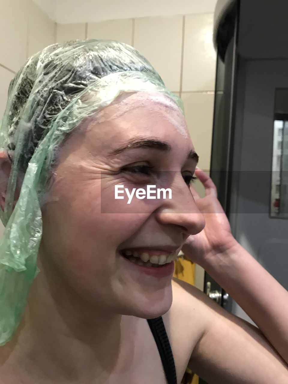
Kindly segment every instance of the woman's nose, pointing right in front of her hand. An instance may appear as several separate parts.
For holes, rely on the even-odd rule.
[[[205,218],[184,180],[180,185],[173,187],[172,199],[163,202],[157,211],[157,220],[162,224],[175,225],[187,235],[196,235],[205,227]]]

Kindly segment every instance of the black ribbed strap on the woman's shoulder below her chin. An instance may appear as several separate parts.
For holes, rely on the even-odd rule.
[[[161,357],[168,384],[177,384],[177,376],[173,353],[166,333],[162,317],[147,320]]]

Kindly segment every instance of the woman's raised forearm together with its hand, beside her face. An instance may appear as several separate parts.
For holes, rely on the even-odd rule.
[[[195,172],[206,194],[192,194],[206,225],[187,238],[183,252],[233,297],[288,363],[288,292],[233,238],[214,183]]]

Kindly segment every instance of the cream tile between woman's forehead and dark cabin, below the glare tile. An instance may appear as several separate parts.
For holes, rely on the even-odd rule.
[[[199,167],[210,169],[214,92],[182,93],[190,136],[199,154]]]

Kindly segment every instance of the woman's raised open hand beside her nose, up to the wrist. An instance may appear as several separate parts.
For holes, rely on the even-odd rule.
[[[200,198],[193,188],[192,195],[206,224],[200,233],[187,238],[182,251],[192,262],[205,267],[207,262],[210,264],[213,261],[211,258],[231,249],[237,241],[232,236],[228,218],[217,199],[215,184],[203,170],[197,168],[195,174],[204,185],[205,197]]]

